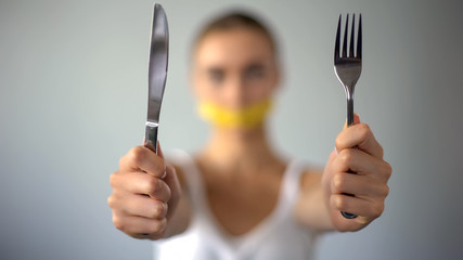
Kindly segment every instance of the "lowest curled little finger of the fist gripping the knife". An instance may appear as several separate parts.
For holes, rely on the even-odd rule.
[[[113,213],[114,225],[130,235],[137,234],[159,234],[166,229],[166,219],[146,219],[142,217],[125,216],[119,217]]]

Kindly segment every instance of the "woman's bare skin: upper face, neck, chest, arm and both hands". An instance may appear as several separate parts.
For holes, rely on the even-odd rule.
[[[249,28],[209,32],[193,53],[191,81],[200,101],[240,108],[271,99],[279,80],[268,39]],[[357,115],[356,125],[337,135],[335,147],[323,170],[303,173],[294,219],[320,232],[358,231],[382,214],[391,168]],[[213,214],[230,235],[246,234],[272,212],[288,164],[271,148],[265,123],[253,129],[213,128],[194,160]],[[183,172],[167,165],[162,150],[156,155],[143,146],[120,159],[119,170],[111,176],[108,197],[117,229],[132,237],[157,239],[189,226],[192,209]],[[359,217],[347,220],[340,210]]]

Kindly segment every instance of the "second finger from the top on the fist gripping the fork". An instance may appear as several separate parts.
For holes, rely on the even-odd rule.
[[[387,182],[391,174],[390,165],[356,148],[340,151],[333,161],[335,172],[355,172]]]

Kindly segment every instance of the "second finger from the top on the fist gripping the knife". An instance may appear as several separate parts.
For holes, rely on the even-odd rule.
[[[145,194],[165,203],[170,199],[170,188],[165,181],[141,171],[113,174],[111,185],[115,191]]]

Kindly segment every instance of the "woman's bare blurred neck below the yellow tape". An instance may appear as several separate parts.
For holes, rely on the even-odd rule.
[[[263,126],[245,131],[214,129],[202,155],[222,169],[249,169],[278,160]]]

